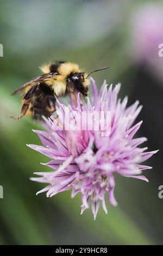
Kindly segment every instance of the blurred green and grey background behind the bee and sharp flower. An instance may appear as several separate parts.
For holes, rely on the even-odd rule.
[[[162,244],[163,199],[158,198],[158,187],[163,184],[163,58],[158,57],[158,44],[163,43],[163,1],[0,0],[0,4],[4,47],[0,57],[0,185],[4,188],[0,243]],[[42,128],[28,117],[7,118],[20,109],[20,97],[11,92],[39,75],[41,64],[53,60],[77,62],[87,71],[108,65],[108,70],[93,74],[99,88],[104,79],[109,84],[121,82],[121,97],[128,95],[129,103],[140,99],[143,110],[137,120],[144,122],[139,135],[148,137],[149,150],[160,149],[147,162],[153,166],[144,172],[148,184],[116,175],[118,206],[108,203],[108,215],[100,209],[96,221],[91,209],[80,215],[80,195],[74,199],[70,191],[52,198],[35,195],[43,184],[30,181],[30,176],[49,169],[40,164],[47,158],[26,144],[40,144],[32,129]]]

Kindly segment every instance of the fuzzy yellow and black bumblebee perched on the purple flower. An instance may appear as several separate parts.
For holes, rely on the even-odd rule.
[[[102,68],[106,69],[108,67]],[[99,69],[99,70],[102,70]],[[21,112],[18,117],[30,115],[34,119],[41,119],[42,115],[50,117],[55,111],[56,97],[71,94],[72,99],[77,103],[76,92],[87,96],[90,84],[89,75],[79,68],[78,64],[71,62],[57,61],[41,67],[43,74],[33,78],[15,90],[12,95],[23,93]]]

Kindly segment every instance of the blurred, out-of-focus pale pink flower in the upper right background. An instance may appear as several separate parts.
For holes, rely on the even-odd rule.
[[[162,5],[142,5],[135,11],[130,23],[131,55],[140,62],[158,62],[158,47],[163,41]]]

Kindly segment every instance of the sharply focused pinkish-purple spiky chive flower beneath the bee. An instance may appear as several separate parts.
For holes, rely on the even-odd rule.
[[[72,101],[68,107],[58,101],[57,117],[44,118],[47,131],[34,131],[43,145],[29,147],[51,158],[46,166],[54,169],[35,173],[41,177],[32,180],[48,184],[37,194],[47,191],[47,197],[52,197],[72,190],[74,197],[81,192],[81,214],[91,206],[96,218],[100,202],[107,213],[105,194],[112,205],[117,205],[114,173],[148,181],[141,172],[151,167],[140,163],[156,151],[145,152],[147,148],[138,147],[147,140],[145,137],[133,138],[142,123],[133,126],[141,111],[139,102],[126,107],[127,97],[118,100],[120,84],[108,89],[104,83],[98,96],[95,81],[91,82],[92,103],[88,98],[83,106],[79,94],[77,106]]]

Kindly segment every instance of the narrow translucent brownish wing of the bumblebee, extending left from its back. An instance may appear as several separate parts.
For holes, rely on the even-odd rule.
[[[43,74],[42,76],[38,76],[36,78],[33,78],[32,80],[30,80],[29,82],[23,84],[23,86],[21,86],[20,88],[16,89],[12,95],[15,95],[17,93],[22,92],[23,89],[27,88],[28,86],[35,86],[35,84],[39,84],[40,82],[42,82],[43,80],[47,79],[47,78],[51,78],[53,77],[52,74]]]

